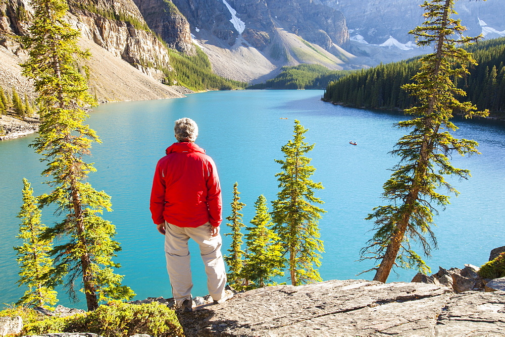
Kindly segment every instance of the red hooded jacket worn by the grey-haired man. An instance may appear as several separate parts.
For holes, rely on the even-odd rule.
[[[156,224],[219,226],[223,202],[216,164],[194,143],[174,143],[156,165],[150,210]]]

